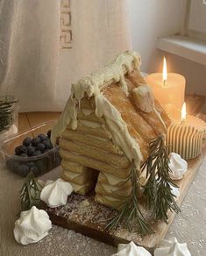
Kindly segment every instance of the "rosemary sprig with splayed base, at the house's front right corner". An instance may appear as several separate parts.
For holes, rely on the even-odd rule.
[[[148,224],[146,219],[139,210],[138,203],[138,190],[139,182],[137,177],[137,170],[135,167],[131,168],[131,174],[129,176],[131,180],[131,195],[124,203],[121,210],[119,210],[117,216],[110,219],[110,222],[106,226],[106,230],[110,231],[112,228],[116,228],[118,224],[124,222],[129,231],[131,226],[139,232],[140,235],[145,236],[148,233],[152,233],[153,230]]]

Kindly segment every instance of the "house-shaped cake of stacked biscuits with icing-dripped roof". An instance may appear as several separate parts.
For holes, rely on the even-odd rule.
[[[120,208],[131,193],[131,167],[140,185],[148,142],[166,134],[170,120],[139,71],[138,53],[127,51],[72,84],[52,140],[60,138],[62,177],[75,193],[95,190],[95,200]]]

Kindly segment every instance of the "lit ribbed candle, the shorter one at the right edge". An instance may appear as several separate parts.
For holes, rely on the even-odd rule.
[[[181,118],[177,112],[173,113],[171,119],[172,124],[167,129],[166,139],[169,153],[179,153],[184,160],[199,156],[202,153],[206,123],[197,117],[186,115],[185,103],[181,110]]]

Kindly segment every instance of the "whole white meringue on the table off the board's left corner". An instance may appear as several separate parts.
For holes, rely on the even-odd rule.
[[[51,228],[52,222],[46,211],[32,206],[30,210],[21,212],[13,233],[19,244],[29,245],[45,238]]]

